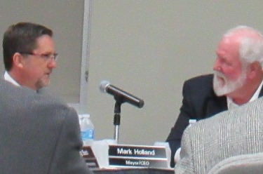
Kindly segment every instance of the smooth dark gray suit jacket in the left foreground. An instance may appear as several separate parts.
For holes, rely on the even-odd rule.
[[[74,109],[0,79],[0,173],[91,173]]]

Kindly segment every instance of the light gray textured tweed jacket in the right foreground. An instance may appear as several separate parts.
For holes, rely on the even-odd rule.
[[[263,98],[209,119],[184,131],[181,160],[175,173],[208,173],[231,156],[263,152]]]

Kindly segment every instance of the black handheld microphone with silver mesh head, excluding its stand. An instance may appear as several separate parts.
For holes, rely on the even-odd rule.
[[[116,100],[116,102],[128,102],[131,105],[139,108],[142,108],[144,105],[143,100],[135,97],[134,95],[131,95],[130,93],[126,93],[116,86],[113,86],[111,83],[109,83],[109,81],[102,81],[100,83],[100,91],[102,93],[109,93],[111,95],[114,95],[114,99]]]

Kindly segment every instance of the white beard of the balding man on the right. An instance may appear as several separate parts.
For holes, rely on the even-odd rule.
[[[227,95],[236,91],[238,88],[244,85],[246,79],[245,71],[243,70],[241,75],[235,81],[228,79],[221,72],[214,73],[213,88],[217,96]]]

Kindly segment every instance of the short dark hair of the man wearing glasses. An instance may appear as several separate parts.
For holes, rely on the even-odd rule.
[[[45,34],[52,37],[53,32],[43,25],[32,22],[19,22],[8,27],[2,45],[6,71],[9,71],[13,65],[15,53],[31,53],[37,47],[36,39]]]

